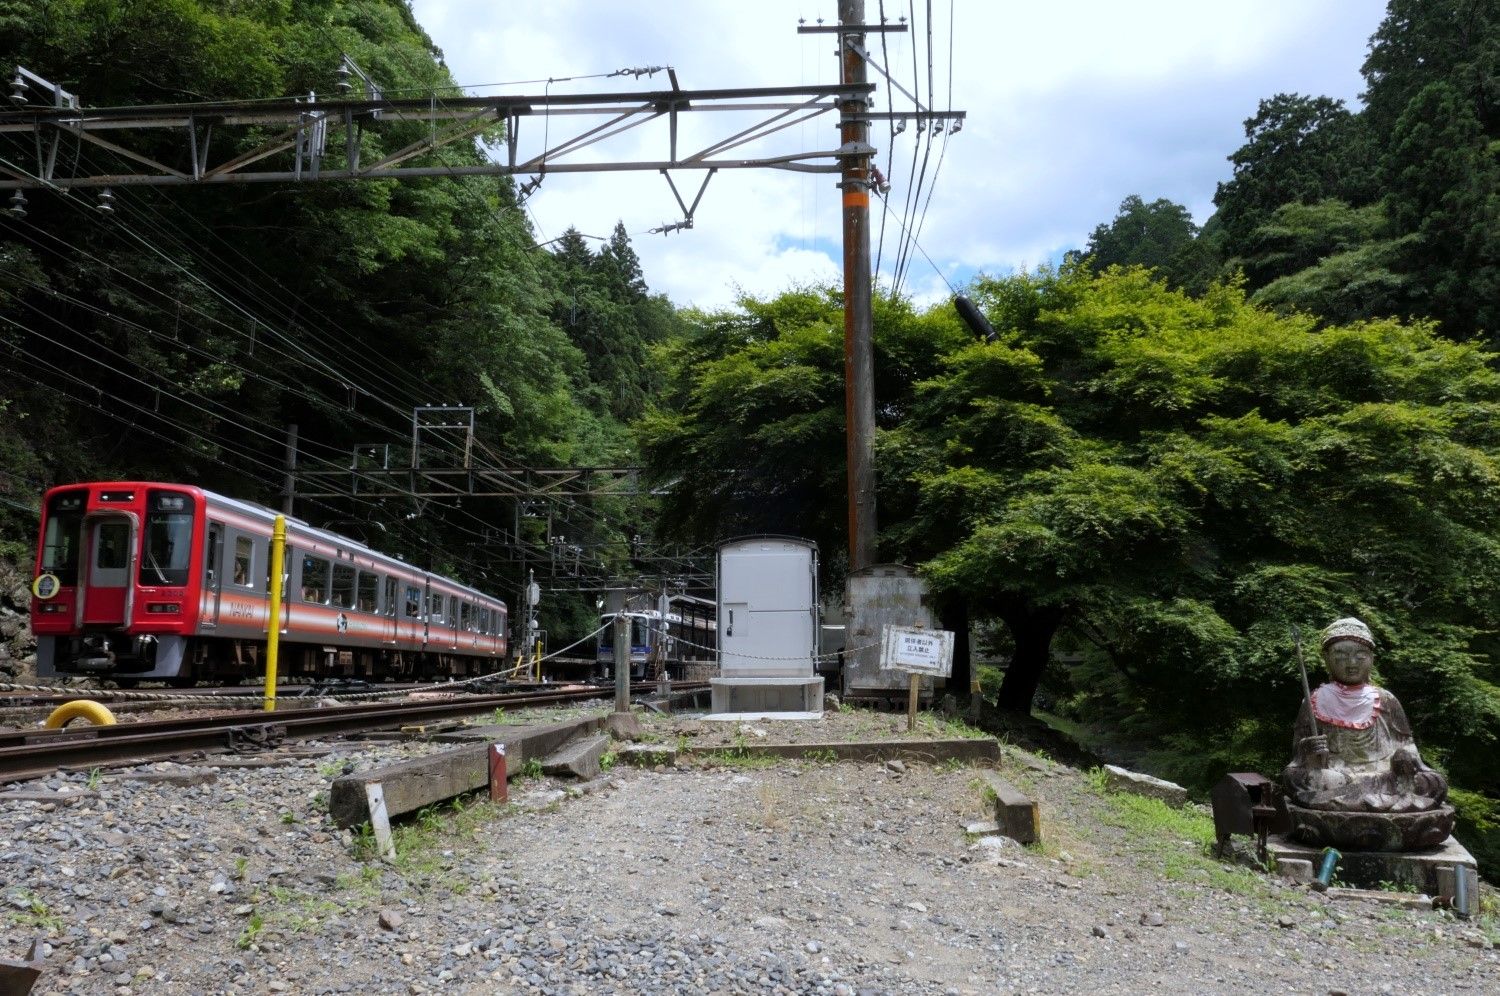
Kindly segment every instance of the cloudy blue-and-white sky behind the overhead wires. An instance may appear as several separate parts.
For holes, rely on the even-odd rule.
[[[836,0],[412,0],[417,20],[471,93],[603,93],[668,88],[656,76],[584,78],[627,68],[672,66],[682,88],[837,82],[834,39],[798,34],[798,20],[837,21]],[[866,18],[879,18],[867,0]],[[903,290],[918,300],[948,296],[975,273],[1008,273],[1056,261],[1080,248],[1122,198],[1166,196],[1203,222],[1228,156],[1244,141],[1256,104],[1280,92],[1328,94],[1358,106],[1370,34],[1383,0],[934,0],[927,87],[924,3],[885,0],[890,21],[915,30],[870,36],[873,57],[908,90],[939,110],[968,112],[964,128],[932,141],[918,243]],[[915,68],[914,68],[915,50]],[[950,58],[951,51],[951,58]],[[872,80],[879,74],[872,70]],[[951,96],[950,80],[951,75]],[[900,93],[876,110],[910,110]],[[582,124],[586,128],[596,122]],[[688,138],[732,134],[747,122],[690,114]],[[578,120],[556,128],[582,130]],[[786,154],[837,146],[825,116],[753,147]],[[552,126],[548,126],[550,129]],[[556,142],[522,126],[526,141]],[[926,136],[922,136],[926,141]],[[891,178],[880,274],[890,282],[898,219],[914,189],[918,135],[872,135]],[[944,150],[944,142],[946,148]],[[592,160],[662,159],[662,129],[639,129],[596,148]],[[942,153],[940,170],[936,170]],[[747,154],[744,152],[738,154]],[[936,180],[933,176],[936,172]],[[687,202],[700,174],[678,178]],[[680,304],[720,308],[741,291],[774,294],[794,284],[840,279],[836,176],[768,170],[720,171],[692,231],[650,230],[681,220],[670,188],[654,172],[546,177],[526,208],[538,242],[570,225],[608,236],[624,222],[646,280]],[[879,231],[880,213],[873,218]],[[908,224],[912,224],[908,220]],[[934,264],[934,266],[933,266]]]

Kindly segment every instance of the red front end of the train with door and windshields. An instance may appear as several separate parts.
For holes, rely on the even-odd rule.
[[[198,622],[204,496],[146,483],[46,492],[32,632],[39,676],[176,681]]]

